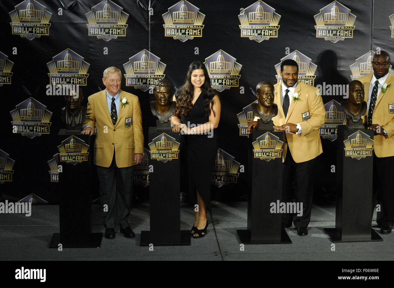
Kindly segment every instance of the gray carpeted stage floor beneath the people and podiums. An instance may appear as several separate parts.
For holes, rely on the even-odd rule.
[[[193,209],[181,204],[181,229],[193,224]],[[104,232],[100,205],[93,205],[93,232]],[[374,215],[374,219],[375,219]],[[247,202],[212,202],[208,233],[191,239],[190,246],[140,247],[141,230],[149,230],[149,204],[133,207],[130,221],[136,238],[119,233],[116,238],[103,238],[101,248],[49,249],[53,233],[59,233],[59,206],[32,206],[32,215],[0,215],[0,260],[393,260],[394,233],[379,235],[382,242],[336,243],[323,228],[335,227],[335,206],[312,208],[309,235],[300,237],[286,228],[292,244],[245,245],[240,251],[236,229],[246,229]],[[375,220],[372,225],[375,225]],[[376,231],[379,229],[375,228]]]

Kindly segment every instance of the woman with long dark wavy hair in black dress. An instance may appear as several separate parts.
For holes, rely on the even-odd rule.
[[[198,209],[190,230],[193,238],[206,234],[206,211],[211,204],[211,175],[217,153],[216,129],[220,119],[219,96],[212,91],[205,65],[196,61],[190,64],[186,81],[174,95],[177,103],[171,117],[173,131],[182,133],[187,150],[189,181]],[[198,211],[196,211],[198,210]]]

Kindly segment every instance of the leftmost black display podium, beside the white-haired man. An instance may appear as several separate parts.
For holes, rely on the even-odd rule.
[[[76,137],[70,140],[69,137]],[[78,139],[77,139],[78,138]],[[69,140],[66,140],[69,139]],[[84,143],[80,140],[84,141]],[[65,141],[66,140],[66,141]],[[63,172],[59,173],[59,220],[60,233],[54,233],[49,248],[100,248],[102,233],[92,233],[92,200],[89,179],[93,148],[91,136],[61,129],[58,134],[59,165]],[[86,147],[85,145],[89,145]],[[78,151],[82,149],[82,153]],[[84,153],[87,149],[87,157]],[[70,153],[66,156],[69,163],[60,161],[60,153]],[[73,153],[74,152],[74,153]],[[87,161],[81,161],[85,160]],[[72,163],[75,163],[73,165]]]

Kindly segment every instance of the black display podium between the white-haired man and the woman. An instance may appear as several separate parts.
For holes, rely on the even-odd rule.
[[[180,230],[179,143],[179,132],[149,127],[150,231],[141,231],[140,246],[190,245],[190,231]]]

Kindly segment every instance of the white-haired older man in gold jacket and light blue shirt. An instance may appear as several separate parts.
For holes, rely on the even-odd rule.
[[[115,225],[127,238],[135,234],[128,223],[132,203],[136,165],[143,158],[143,132],[139,100],[121,90],[121,71],[104,70],[106,90],[89,96],[85,128],[82,134],[93,134],[96,123],[94,163],[100,181],[100,200],[104,211],[105,237],[115,238]]]

